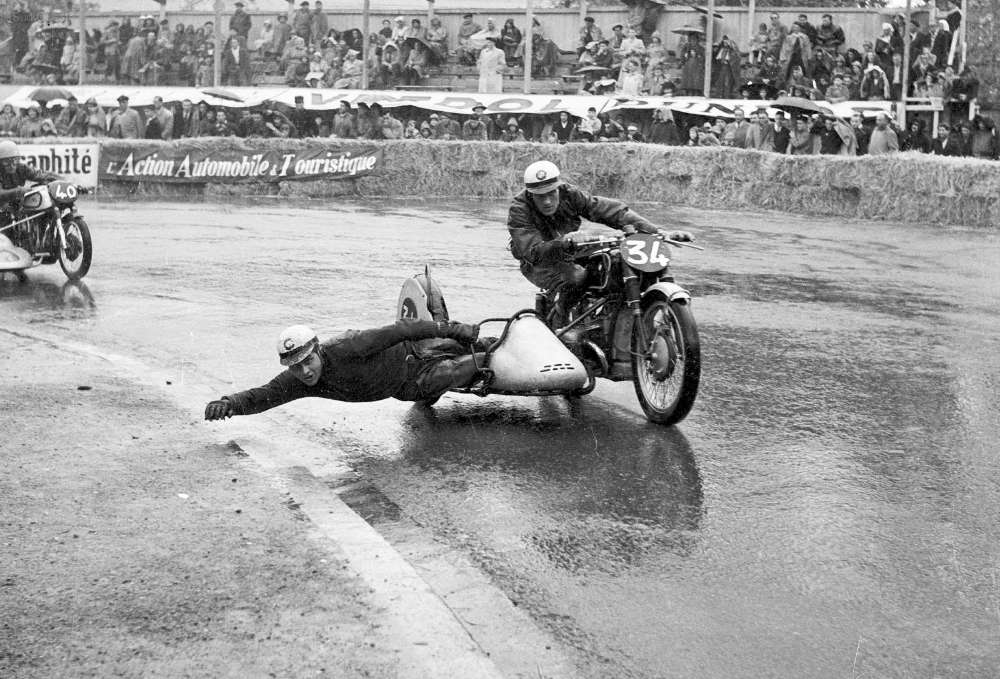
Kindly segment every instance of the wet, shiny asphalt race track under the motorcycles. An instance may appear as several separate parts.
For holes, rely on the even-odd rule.
[[[531,306],[502,204],[85,203],[86,285],[0,281],[12,326],[233,389],[286,325],[392,319],[430,262],[452,316]],[[669,213],[645,213],[668,223]],[[1000,668],[1000,243],[683,210],[702,392],[303,402],[378,494],[469,553],[587,677],[988,677]],[[141,398],[137,395],[137,398]],[[225,425],[233,434],[239,420]]]

